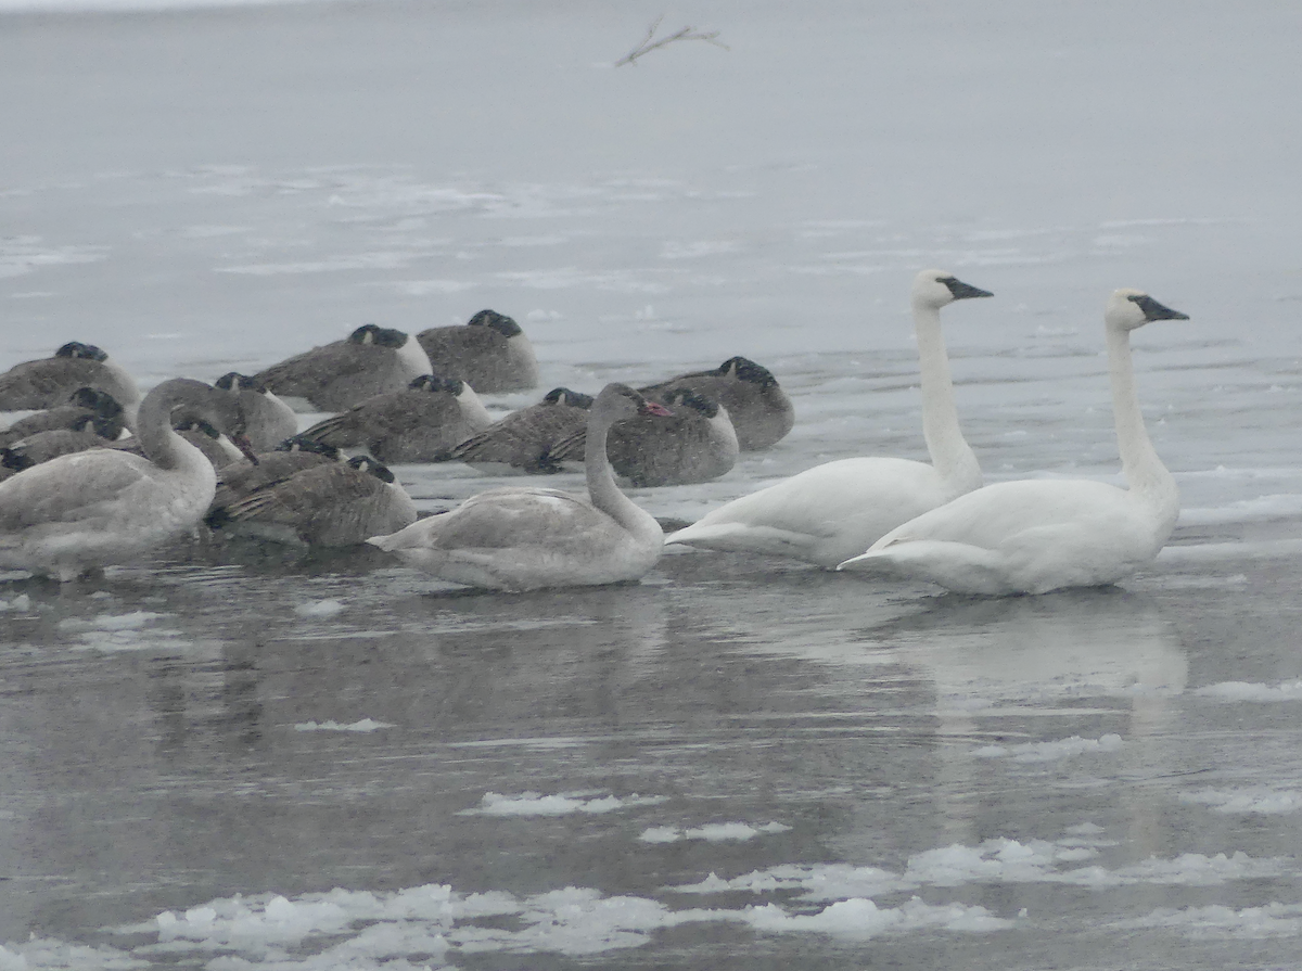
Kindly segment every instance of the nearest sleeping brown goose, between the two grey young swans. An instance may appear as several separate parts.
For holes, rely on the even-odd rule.
[[[352,547],[415,522],[415,504],[385,466],[368,456],[327,462],[255,489],[208,517],[263,539]]]

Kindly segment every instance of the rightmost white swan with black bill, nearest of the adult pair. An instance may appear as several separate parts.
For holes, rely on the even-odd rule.
[[[1150,320],[1187,319],[1141,290],[1108,299],[1112,411],[1129,489],[1088,480],[996,483],[904,523],[838,569],[1008,595],[1113,583],[1151,562],[1176,526],[1180,492],[1144,430],[1130,332]]]

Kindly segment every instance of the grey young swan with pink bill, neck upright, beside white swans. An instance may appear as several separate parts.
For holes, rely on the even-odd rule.
[[[492,590],[635,581],[660,558],[664,534],[615,484],[605,437],[615,422],[637,414],[669,413],[622,384],[596,396],[587,426],[587,499],[559,489],[490,489],[367,543],[443,579]]]

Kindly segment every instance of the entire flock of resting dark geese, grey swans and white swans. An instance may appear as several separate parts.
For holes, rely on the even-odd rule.
[[[1180,499],[1144,430],[1130,332],[1186,320],[1139,290],[1104,308],[1112,406],[1129,488],[1092,480],[982,484],[954,406],[940,311],[990,297],[917,275],[911,305],[928,462],[842,458],[711,510],[668,536],[620,488],[704,482],[794,423],[764,367],[717,368],[594,398],[556,388],[493,420],[477,390],[534,388],[521,328],[486,310],[419,335],[367,324],[346,340],[214,385],[143,397],[104,351],[70,342],[0,375],[0,566],[69,581],[204,528],[323,545],[370,543],[456,583],[526,591],[637,581],[665,544],[793,557],[937,583],[1042,594],[1116,582],[1150,562]],[[299,432],[288,401],[335,413]],[[125,430],[129,430],[128,433]],[[345,449],[365,449],[348,461]],[[384,462],[523,474],[585,470],[587,495],[495,488],[422,517]]]

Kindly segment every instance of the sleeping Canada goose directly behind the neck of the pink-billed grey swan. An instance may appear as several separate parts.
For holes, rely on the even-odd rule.
[[[611,428],[605,454],[615,474],[631,486],[685,486],[710,482],[737,462],[737,432],[728,411],[687,388],[664,396],[672,415],[638,415]],[[583,452],[581,430],[553,450],[559,461]]]

